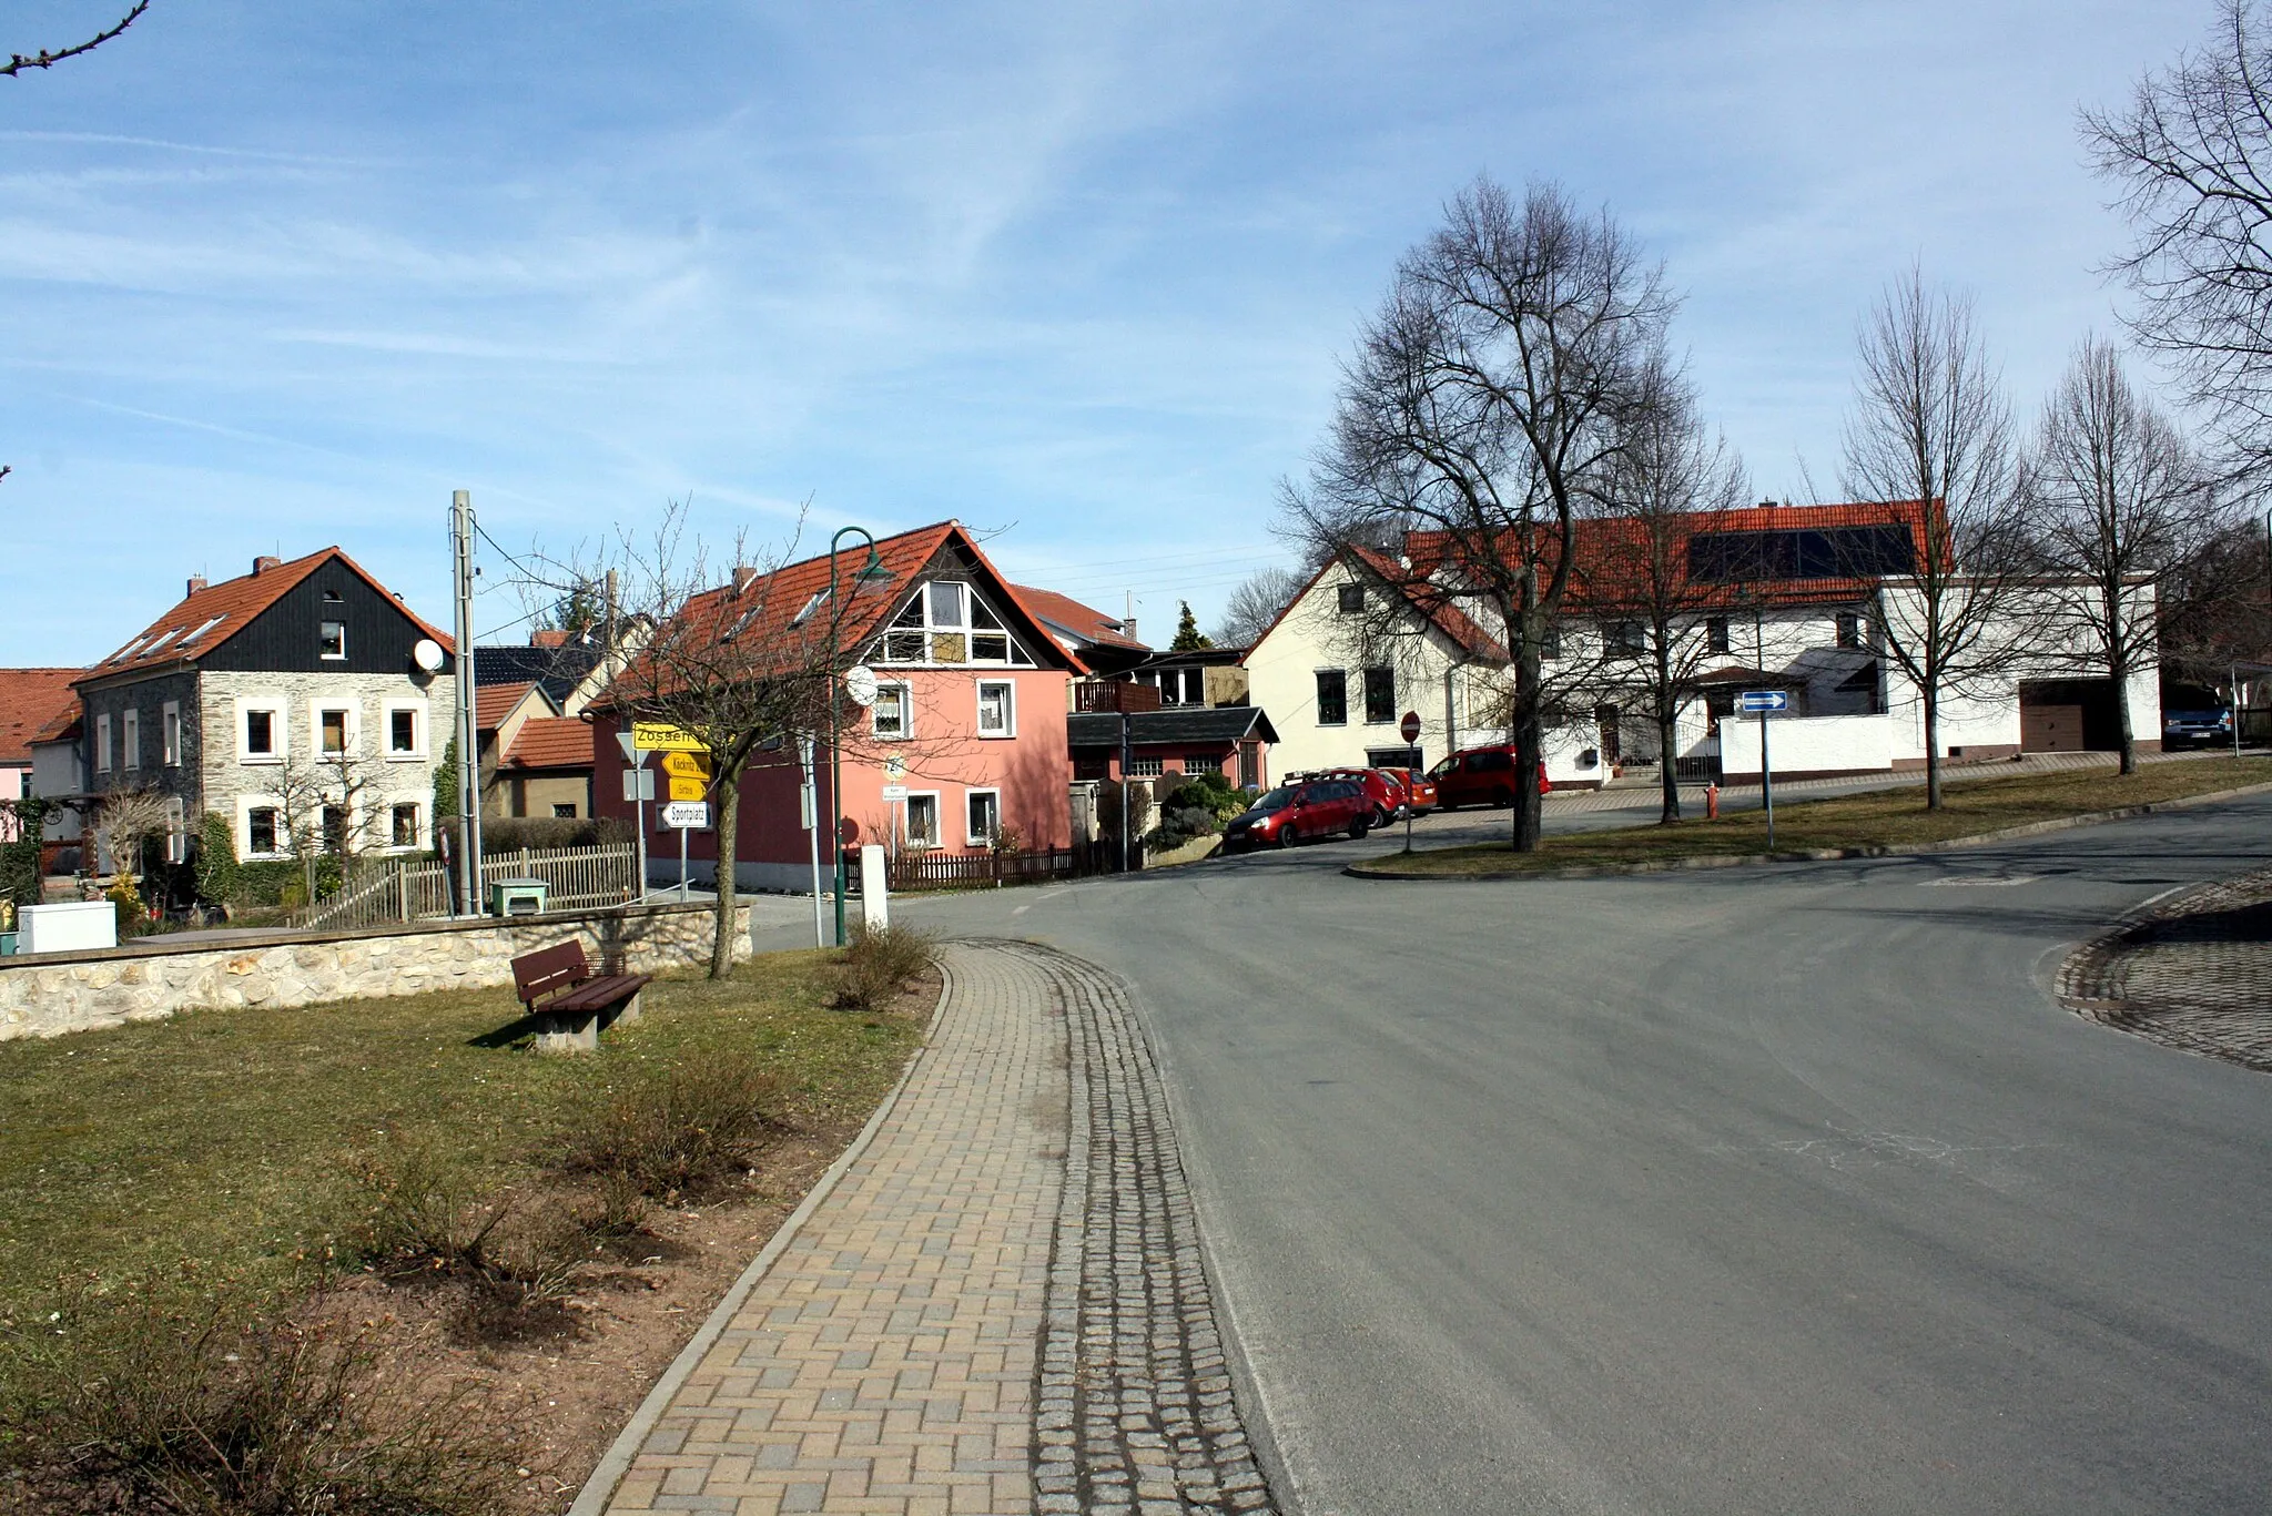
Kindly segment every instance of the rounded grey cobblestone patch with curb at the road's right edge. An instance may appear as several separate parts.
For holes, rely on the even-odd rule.
[[[2272,1073],[2272,868],[2188,889],[2058,968],[2077,1016]]]

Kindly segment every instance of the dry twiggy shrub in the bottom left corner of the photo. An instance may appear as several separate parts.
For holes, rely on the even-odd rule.
[[[389,1373],[368,1327],[259,1321],[225,1296],[82,1298],[5,1359],[0,1457],[23,1509],[475,1516],[513,1468],[495,1414]]]

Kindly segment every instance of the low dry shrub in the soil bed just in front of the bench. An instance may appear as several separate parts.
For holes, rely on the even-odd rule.
[[[598,1175],[618,1214],[627,1196],[677,1202],[750,1166],[772,1130],[779,1080],[750,1052],[623,1071],[561,1136],[563,1166]]]

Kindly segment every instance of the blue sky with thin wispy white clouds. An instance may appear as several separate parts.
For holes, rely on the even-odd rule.
[[[116,9],[11,5],[0,50]],[[157,0],[0,80],[0,664],[332,541],[448,625],[452,489],[513,550],[682,495],[761,545],[807,500],[807,541],[957,516],[1166,641],[1284,561],[1275,482],[1479,170],[1661,252],[1759,491],[1829,495],[1854,325],[1911,259],[1974,291],[2022,411],[2115,325],[2074,109],[2208,20]]]

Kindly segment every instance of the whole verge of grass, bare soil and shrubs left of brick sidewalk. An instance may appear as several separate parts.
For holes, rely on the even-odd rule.
[[[516,1411],[570,1398],[557,1343],[673,1350],[638,1271],[695,1207],[777,1218],[920,1041],[845,973],[666,975],[582,1057],[509,989],[0,1043],[0,1509],[557,1509],[613,1430]]]

